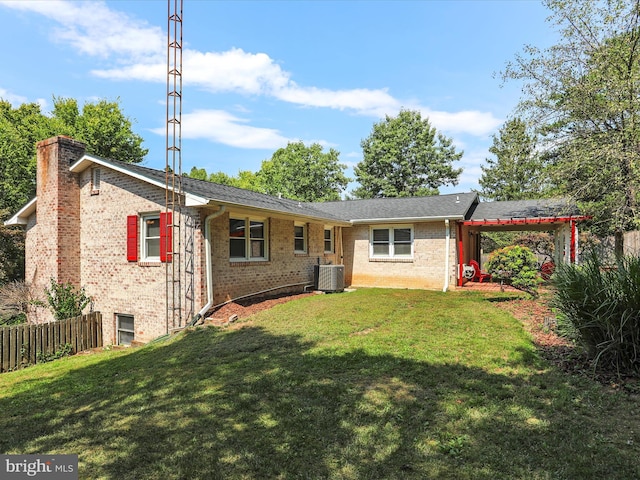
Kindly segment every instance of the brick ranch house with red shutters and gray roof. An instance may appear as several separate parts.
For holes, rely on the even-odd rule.
[[[554,230],[557,261],[572,261],[583,218],[560,216],[560,202],[476,193],[304,203],[186,177],[182,189],[182,218],[171,219],[163,171],[88,155],[68,137],[39,142],[36,197],[5,222],[26,228],[26,281],[84,287],[105,343],[147,342],[225,301],[312,288],[318,264],[344,265],[353,287],[461,287],[486,229]],[[178,247],[170,225],[181,225]],[[166,309],[172,254],[185,259],[177,324]]]

